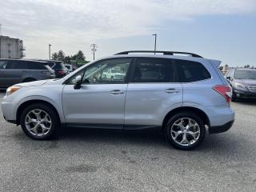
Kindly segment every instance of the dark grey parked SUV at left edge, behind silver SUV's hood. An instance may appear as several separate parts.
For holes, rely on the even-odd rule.
[[[47,62],[0,59],[0,89],[6,89],[20,82],[33,82],[48,78],[55,78],[55,74]]]

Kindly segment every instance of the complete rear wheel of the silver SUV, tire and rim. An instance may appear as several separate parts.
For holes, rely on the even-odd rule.
[[[168,142],[178,150],[192,150],[204,140],[206,128],[198,114],[182,112],[168,120],[164,132]]]

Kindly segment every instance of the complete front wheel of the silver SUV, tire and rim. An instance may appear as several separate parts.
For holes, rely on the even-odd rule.
[[[27,106],[21,115],[22,130],[35,140],[54,138],[59,125],[58,114],[52,106],[44,103]]]

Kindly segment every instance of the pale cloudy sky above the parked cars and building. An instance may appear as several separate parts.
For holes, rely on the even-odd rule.
[[[52,51],[92,59],[123,50],[190,51],[223,64],[256,66],[256,0],[0,0],[2,34],[21,38],[26,58]]]

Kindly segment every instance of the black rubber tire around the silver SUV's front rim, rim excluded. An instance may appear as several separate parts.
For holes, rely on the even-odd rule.
[[[50,115],[52,126],[50,128],[49,133],[44,136],[36,136],[36,135],[30,134],[30,132],[26,129],[26,125],[25,125],[26,114],[28,114],[31,110],[35,110],[35,109],[44,110],[46,111],[47,114]],[[50,138],[54,138],[59,126],[58,114],[56,114],[54,109],[49,105],[42,104],[42,103],[32,104],[31,106],[27,106],[26,109],[23,110],[21,115],[21,126],[25,134],[35,140],[47,140]]]

